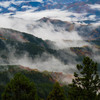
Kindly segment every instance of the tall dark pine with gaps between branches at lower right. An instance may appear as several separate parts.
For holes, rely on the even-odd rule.
[[[75,79],[69,85],[69,98],[71,100],[95,100],[100,89],[97,63],[85,57],[82,65],[77,65],[79,72],[74,73]]]

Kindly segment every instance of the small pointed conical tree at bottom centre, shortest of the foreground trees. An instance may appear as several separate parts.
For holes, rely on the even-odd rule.
[[[54,85],[54,88],[48,95],[47,100],[66,100],[64,90],[60,87],[59,83]]]

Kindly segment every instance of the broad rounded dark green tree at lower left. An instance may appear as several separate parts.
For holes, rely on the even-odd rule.
[[[33,82],[18,73],[7,84],[2,100],[37,100],[37,92]]]

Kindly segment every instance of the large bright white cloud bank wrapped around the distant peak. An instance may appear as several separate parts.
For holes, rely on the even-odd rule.
[[[66,31],[66,27],[69,26],[58,27],[53,25],[50,21],[46,23],[37,21],[43,17],[50,17],[56,20],[67,20],[66,16],[70,16],[71,14],[72,13],[67,13],[66,11],[60,10],[47,10],[35,13],[30,13],[30,11],[29,13],[28,11],[19,12],[13,17],[9,17],[9,14],[5,14],[0,15],[0,27],[27,32],[29,34],[35,35],[36,37],[42,38],[43,40],[53,41],[54,44],[60,49],[64,49],[66,47],[82,47],[84,45],[88,45],[83,41],[82,37],[79,36],[76,30],[72,29],[71,31]],[[74,15],[77,17],[80,16],[80,14]],[[71,18],[69,21],[71,21]],[[70,28],[73,28],[73,26],[74,25],[72,25]]]

